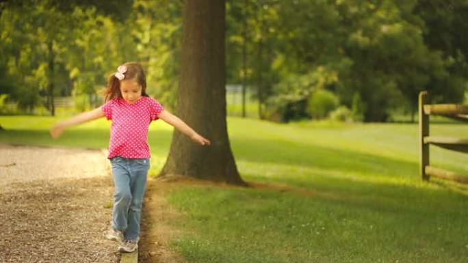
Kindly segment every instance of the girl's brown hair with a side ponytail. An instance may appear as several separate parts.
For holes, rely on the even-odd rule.
[[[127,72],[124,73],[125,79],[122,79],[122,81],[134,79],[142,86],[142,96],[148,97],[148,94],[146,94],[146,75],[144,74],[142,64],[139,62],[127,62],[122,65],[127,66]],[[112,100],[113,98],[122,98],[120,81],[114,74],[115,73],[109,76],[107,87],[103,92],[104,102]]]

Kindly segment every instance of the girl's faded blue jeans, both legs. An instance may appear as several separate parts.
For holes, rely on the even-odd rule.
[[[137,240],[149,159],[116,156],[110,162],[115,186],[111,226],[123,232],[125,240]]]

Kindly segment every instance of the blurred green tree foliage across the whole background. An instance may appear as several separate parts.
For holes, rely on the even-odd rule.
[[[45,103],[52,111],[51,96],[70,94],[92,107],[114,68],[138,60],[148,92],[174,108],[182,5],[1,2],[0,93],[29,109]],[[364,121],[389,120],[396,108],[414,114],[423,89],[434,102],[461,102],[467,18],[468,2],[456,0],[228,0],[226,81],[244,83],[263,118],[302,110],[295,103],[317,87],[349,109],[358,94]]]

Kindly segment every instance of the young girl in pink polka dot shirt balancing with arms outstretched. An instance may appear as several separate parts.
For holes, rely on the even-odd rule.
[[[69,126],[100,117],[112,120],[107,158],[112,164],[115,191],[107,238],[120,242],[119,251],[133,252],[138,248],[140,236],[140,213],[150,158],[147,139],[151,121],[164,120],[202,146],[209,145],[210,141],[146,94],[146,77],[140,63],[129,62],[119,66],[108,82],[104,105],[55,124],[51,128],[51,136],[55,139]]]

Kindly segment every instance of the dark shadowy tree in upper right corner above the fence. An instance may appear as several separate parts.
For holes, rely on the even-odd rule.
[[[422,21],[428,49],[441,52],[446,74],[428,86],[434,102],[463,102],[468,79],[468,2],[419,0],[413,13]]]

